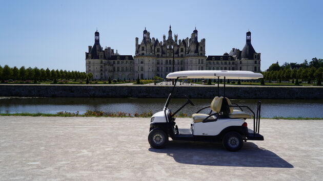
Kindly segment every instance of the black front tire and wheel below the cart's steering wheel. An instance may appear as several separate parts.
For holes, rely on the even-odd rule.
[[[153,148],[163,148],[168,142],[168,136],[163,130],[151,130],[148,134],[148,142]]]

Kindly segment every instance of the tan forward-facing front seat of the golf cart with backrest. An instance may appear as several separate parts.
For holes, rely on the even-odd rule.
[[[221,105],[222,105],[222,100],[223,100],[223,97],[215,97],[212,102],[211,102],[211,105],[210,105],[210,108],[216,112],[216,113],[219,113],[220,112],[220,109],[221,109]],[[199,113],[195,113],[192,115],[192,118],[193,118],[193,121],[194,123],[199,123],[199,122],[202,122],[204,119],[206,119],[208,116],[210,115],[207,115],[207,114],[199,114]],[[207,120],[214,120],[216,119],[215,116],[211,116],[209,117]]]

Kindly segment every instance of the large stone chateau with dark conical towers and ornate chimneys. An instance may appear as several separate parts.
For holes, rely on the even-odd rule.
[[[135,38],[135,56],[119,55],[110,47],[104,50],[99,43],[99,32],[94,33],[94,45],[85,53],[86,73],[93,79],[134,80],[165,78],[170,72],[188,70],[240,70],[260,72],[260,53],[251,44],[251,32],[246,34],[246,45],[242,51],[233,48],[223,55],[205,55],[205,38],[198,41],[198,31],[193,30],[191,38],[178,39],[169,26],[168,37],[163,41],[150,38],[144,30],[143,39]]]

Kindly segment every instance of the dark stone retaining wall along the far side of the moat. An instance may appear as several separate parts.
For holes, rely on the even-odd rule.
[[[0,97],[114,97],[165,98],[170,86],[117,85],[0,85]],[[213,98],[216,86],[177,86],[173,97]],[[220,87],[219,95],[223,96]],[[226,97],[231,99],[323,99],[323,87],[229,86]]]

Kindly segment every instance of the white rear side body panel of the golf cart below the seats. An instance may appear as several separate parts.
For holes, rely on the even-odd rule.
[[[218,119],[214,122],[192,122],[193,135],[218,135],[229,126],[241,126],[245,119]]]

